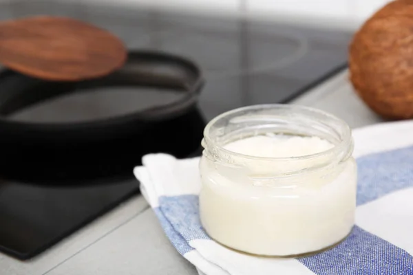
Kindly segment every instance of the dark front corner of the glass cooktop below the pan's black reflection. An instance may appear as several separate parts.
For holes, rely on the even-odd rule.
[[[134,177],[100,186],[0,184],[0,250],[30,258],[137,192]]]

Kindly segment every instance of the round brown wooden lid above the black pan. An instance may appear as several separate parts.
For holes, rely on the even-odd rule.
[[[97,78],[122,67],[123,42],[94,25],[39,16],[0,23],[0,63],[46,80]]]

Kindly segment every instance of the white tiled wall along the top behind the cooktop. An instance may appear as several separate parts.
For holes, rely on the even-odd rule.
[[[1,0],[0,0],[1,1]],[[246,14],[266,20],[357,28],[390,0],[83,0],[196,12]]]

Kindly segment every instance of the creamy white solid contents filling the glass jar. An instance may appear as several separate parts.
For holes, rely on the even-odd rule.
[[[332,146],[319,137],[261,135],[225,148],[259,157],[297,157]],[[282,177],[295,165],[312,167],[321,160],[280,164],[248,159],[247,167],[237,167],[202,157],[202,225],[216,241],[252,254],[303,254],[341,241],[354,225],[354,159]]]

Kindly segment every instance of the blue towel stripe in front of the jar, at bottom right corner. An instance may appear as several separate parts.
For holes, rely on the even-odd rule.
[[[410,254],[357,226],[335,248],[297,260],[317,275],[413,274]]]

